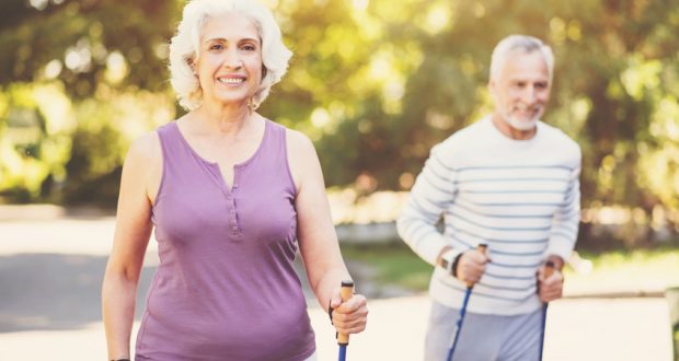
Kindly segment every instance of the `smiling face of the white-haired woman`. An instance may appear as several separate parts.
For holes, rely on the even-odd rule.
[[[262,81],[262,43],[254,23],[231,13],[208,18],[195,70],[204,104],[246,105]]]

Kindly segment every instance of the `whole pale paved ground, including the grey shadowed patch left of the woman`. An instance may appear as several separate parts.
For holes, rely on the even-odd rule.
[[[0,206],[1,361],[105,360],[100,292],[113,230],[114,218],[105,212]],[[139,304],[158,264],[156,252],[151,241]],[[670,361],[663,287],[618,288],[624,298],[592,292],[606,284],[567,289],[565,299],[550,305],[544,360]],[[306,291],[319,360],[335,360],[334,329]],[[652,296],[630,296],[634,294]],[[370,298],[369,308],[368,328],[352,337],[347,359],[422,359],[429,311],[426,294]],[[135,334],[137,329],[138,323]]]

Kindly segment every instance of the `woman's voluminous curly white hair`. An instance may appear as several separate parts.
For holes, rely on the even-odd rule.
[[[207,19],[226,13],[250,19],[262,42],[263,79],[252,98],[253,109],[264,102],[272,85],[280,81],[288,69],[292,51],[283,44],[280,27],[266,7],[253,0],[192,0],[184,7],[176,35],[170,42],[170,82],[180,105],[187,110],[203,103],[203,90],[193,69],[199,56],[200,31]]]

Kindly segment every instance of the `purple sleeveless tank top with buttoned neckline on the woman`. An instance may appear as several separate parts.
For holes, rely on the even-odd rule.
[[[266,120],[229,189],[176,123],[158,128],[163,173],[152,209],[160,265],[136,360],[306,360],[315,341],[300,280],[286,129]]]

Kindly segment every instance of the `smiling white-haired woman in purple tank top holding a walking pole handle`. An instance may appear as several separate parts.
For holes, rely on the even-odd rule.
[[[103,284],[108,357],[129,359],[151,230],[160,265],[137,360],[315,360],[292,264],[297,242],[319,303],[340,333],[366,327],[342,302],[349,278],[313,144],[255,109],[291,53],[271,12],[248,0],[194,0],[170,46],[172,85],[189,110],[135,141],[123,171]]]

